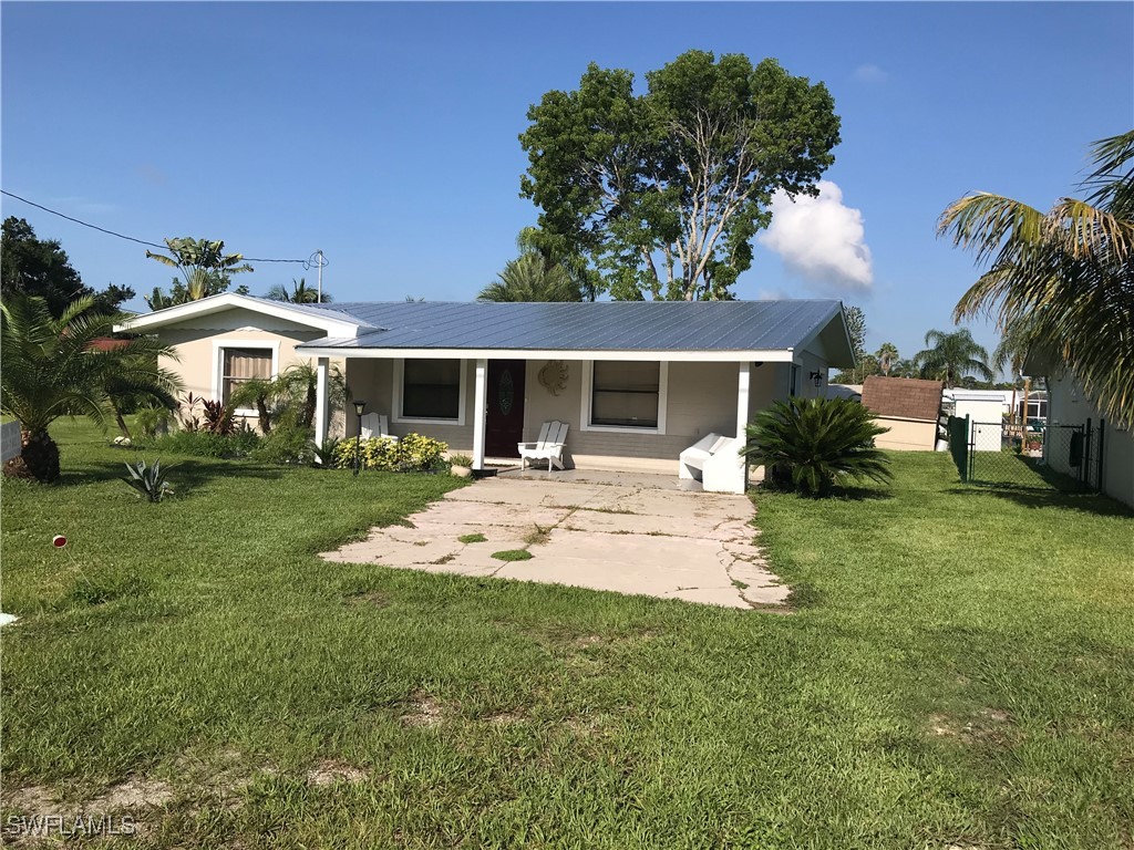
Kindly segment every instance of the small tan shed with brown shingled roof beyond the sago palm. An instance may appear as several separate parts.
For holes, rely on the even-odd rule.
[[[874,440],[880,449],[933,451],[941,414],[941,382],[871,375],[862,386],[862,403],[874,422],[889,431]]]

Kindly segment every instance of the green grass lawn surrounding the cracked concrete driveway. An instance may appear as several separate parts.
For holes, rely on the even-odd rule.
[[[57,431],[62,485],[2,490],[5,817],[129,780],[169,848],[1134,845],[1108,500],[908,454],[758,494],[779,617],[323,563],[457,485],[184,459],[151,505]]]

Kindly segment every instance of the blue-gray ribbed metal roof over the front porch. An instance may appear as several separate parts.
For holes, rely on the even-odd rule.
[[[373,331],[303,347],[562,351],[754,351],[798,348],[839,315],[835,300],[346,303]],[[845,331],[839,329],[840,335]]]

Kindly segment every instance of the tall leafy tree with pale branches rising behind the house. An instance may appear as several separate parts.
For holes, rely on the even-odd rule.
[[[592,63],[544,94],[519,137],[522,194],[543,244],[587,257],[615,298],[728,298],[772,193],[816,194],[835,161],[833,101],[775,59],[697,50],[646,82],[635,96],[631,71]]]

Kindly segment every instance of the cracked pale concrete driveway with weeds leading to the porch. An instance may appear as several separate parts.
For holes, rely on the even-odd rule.
[[[543,581],[708,605],[780,606],[745,496],[692,493],[666,476],[545,473],[486,478],[375,528],[329,561]],[[462,537],[483,535],[483,542]],[[523,550],[530,560],[493,558]]]

